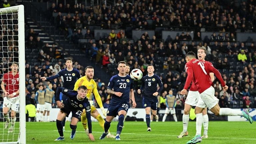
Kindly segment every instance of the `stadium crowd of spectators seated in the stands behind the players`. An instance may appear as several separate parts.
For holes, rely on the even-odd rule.
[[[220,107],[231,108],[255,108],[255,68],[256,47],[252,42],[250,46],[236,39],[236,32],[255,32],[256,28],[256,3],[253,0],[246,2],[229,1],[153,1],[136,0],[131,5],[118,0],[111,8],[105,5],[97,5],[85,8],[84,5],[70,6],[59,3],[52,4],[49,8],[50,15],[58,13],[54,22],[56,27],[67,32],[66,39],[72,41],[85,54],[90,54],[92,61],[102,66],[110,75],[116,73],[115,68],[119,61],[126,61],[130,69],[139,68],[143,75],[147,74],[147,66],[153,64],[156,74],[163,81],[164,88],[161,92],[161,108],[165,108],[165,96],[170,89],[176,95],[176,108],[184,108],[186,95],[180,95],[180,91],[186,81],[184,72],[184,56],[189,51],[197,53],[199,47],[207,49],[206,60],[211,61],[218,68],[229,86],[227,92],[222,90],[220,83],[215,80],[215,96],[220,99]],[[74,15],[73,17],[71,16]],[[152,23],[149,23],[151,21]],[[1,21],[2,25],[7,23]],[[91,26],[100,26],[102,29],[110,29],[107,37],[101,37],[93,42],[94,34]],[[169,30],[186,31],[177,36],[162,40],[158,35],[149,37],[148,33],[133,43],[131,35],[123,30],[127,26],[134,30],[155,30],[157,27],[165,27]],[[15,31],[8,31],[13,44],[6,43],[7,32],[2,26],[0,37],[0,52],[3,65],[0,65],[0,78],[8,72],[8,62],[17,61],[18,44],[15,44]],[[85,35],[81,33],[86,29]],[[193,31],[193,39],[191,37]],[[220,32],[212,33],[210,38],[201,37],[202,31]],[[13,35],[13,37],[12,37]],[[78,44],[78,39],[91,39],[86,44]],[[10,40],[10,39],[9,39]],[[183,41],[183,43],[181,43]],[[187,41],[187,42],[184,42]],[[191,44],[188,44],[191,42]],[[214,44],[211,44],[213,43]],[[196,44],[198,43],[198,44]],[[63,79],[53,81],[41,80],[40,77],[54,76],[61,69],[65,69],[62,52],[54,44],[49,46],[38,37],[38,34],[30,29],[26,35],[26,50],[38,52],[38,65],[31,66],[30,59],[26,59],[26,103],[35,104],[35,92],[39,85],[47,88],[53,84],[53,90],[63,86]],[[9,56],[9,58],[8,58]],[[13,57],[13,58],[12,58]],[[15,60],[16,59],[16,60]],[[73,62],[74,68],[84,76],[84,67],[78,62]],[[96,81],[99,94],[102,97],[103,106],[108,107],[111,96],[106,93],[105,83],[100,79]],[[140,82],[136,83],[138,89]],[[1,96],[3,92],[1,91]],[[136,99],[141,96],[137,95]],[[3,97],[0,97],[2,101]],[[97,107],[97,103],[96,107]],[[56,105],[55,105],[56,106]],[[142,106],[138,106],[142,107]]]

